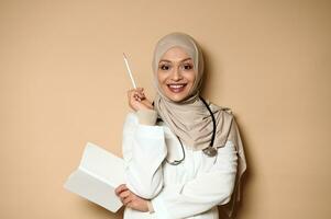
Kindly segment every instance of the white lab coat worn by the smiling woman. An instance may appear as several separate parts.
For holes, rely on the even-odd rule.
[[[183,143],[184,145],[184,143]],[[155,212],[125,208],[124,219],[218,219],[217,205],[229,203],[233,192],[238,154],[231,141],[210,158],[201,150],[186,147],[185,160],[177,137],[164,124],[139,124],[134,113],[123,128],[123,158],[126,186],[151,199]]]

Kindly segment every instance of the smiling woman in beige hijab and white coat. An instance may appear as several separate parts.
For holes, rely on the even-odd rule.
[[[142,88],[128,92],[134,113],[123,128],[126,184],[115,191],[124,218],[214,219],[217,206],[231,217],[245,157],[230,110],[200,96],[198,44],[184,33],[164,36],[153,71],[153,103]]]

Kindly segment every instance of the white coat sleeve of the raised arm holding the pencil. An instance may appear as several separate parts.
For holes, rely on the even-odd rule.
[[[162,162],[167,153],[163,127],[141,125],[136,115],[130,113],[122,150],[128,188],[146,199],[155,197],[163,187]]]

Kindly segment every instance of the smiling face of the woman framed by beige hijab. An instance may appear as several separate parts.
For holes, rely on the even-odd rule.
[[[170,48],[159,59],[157,80],[168,99],[174,102],[183,101],[196,80],[192,58],[179,47]]]

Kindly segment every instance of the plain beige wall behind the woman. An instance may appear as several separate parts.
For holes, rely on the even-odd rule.
[[[331,217],[331,2],[0,1],[0,218],[122,218],[63,188],[87,141],[121,155],[128,53],[153,96],[152,51],[203,48],[205,96],[236,115],[241,219]]]

